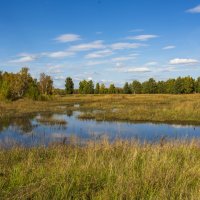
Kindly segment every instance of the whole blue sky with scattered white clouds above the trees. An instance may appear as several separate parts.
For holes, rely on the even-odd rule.
[[[200,0],[0,0],[0,70],[62,88],[200,76]]]

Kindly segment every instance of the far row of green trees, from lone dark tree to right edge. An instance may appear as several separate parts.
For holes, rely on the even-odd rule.
[[[150,78],[147,81],[137,80],[126,82],[123,87],[116,87],[113,83],[106,87],[104,83],[80,81],[79,89],[74,89],[73,80],[68,77],[65,81],[67,94],[192,94],[200,93],[200,77],[196,80],[190,76],[168,79],[167,81],[156,81]]]

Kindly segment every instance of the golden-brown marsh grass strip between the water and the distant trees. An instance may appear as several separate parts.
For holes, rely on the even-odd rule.
[[[80,107],[74,107],[74,104],[80,104]],[[45,102],[0,102],[0,118],[66,110],[83,111],[82,119],[200,124],[200,94],[69,95]]]

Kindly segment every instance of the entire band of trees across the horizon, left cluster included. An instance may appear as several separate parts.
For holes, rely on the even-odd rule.
[[[122,88],[92,80],[79,82],[79,88],[74,88],[71,77],[66,77],[65,89],[54,88],[53,79],[44,73],[39,80],[34,79],[28,68],[22,68],[18,73],[0,72],[0,99],[16,100],[27,97],[33,100],[45,100],[51,95],[66,94],[192,94],[200,93],[200,77],[190,76],[156,81],[153,78],[145,82],[133,80],[126,82]]]

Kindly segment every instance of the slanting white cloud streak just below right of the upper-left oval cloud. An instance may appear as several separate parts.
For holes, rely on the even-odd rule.
[[[93,50],[93,49],[103,49],[103,48],[105,48],[103,41],[97,40],[94,42],[83,43],[83,44],[71,46],[69,48],[69,51],[70,52],[78,52],[78,51],[89,51],[89,50]]]

